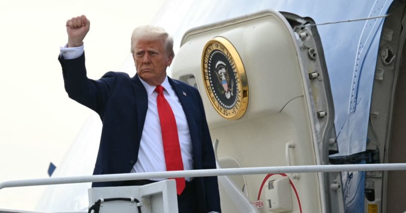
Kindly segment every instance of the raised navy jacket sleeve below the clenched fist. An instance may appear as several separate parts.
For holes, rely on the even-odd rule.
[[[102,117],[104,106],[114,87],[115,73],[107,72],[99,80],[86,76],[84,53],[77,59],[58,58],[62,66],[65,90],[69,97],[97,112]]]

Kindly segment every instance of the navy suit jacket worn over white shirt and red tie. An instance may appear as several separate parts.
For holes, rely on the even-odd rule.
[[[137,74],[129,77],[127,73],[110,71],[98,80],[89,79],[84,61],[84,53],[72,60],[59,57],[69,97],[94,110],[103,123],[93,175],[129,173],[137,162],[148,109],[147,91]],[[198,90],[181,81],[168,80],[186,115],[194,169],[215,169],[213,145]],[[196,183],[201,212],[220,212],[217,177],[196,178]],[[99,182],[92,187],[121,184],[122,181]]]

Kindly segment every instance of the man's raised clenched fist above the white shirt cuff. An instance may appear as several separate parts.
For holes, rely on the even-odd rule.
[[[66,21],[66,31],[68,32],[68,47],[79,47],[83,44],[83,39],[90,29],[90,21],[86,16],[73,17]]]

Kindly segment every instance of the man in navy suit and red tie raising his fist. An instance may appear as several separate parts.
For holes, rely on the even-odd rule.
[[[66,29],[68,44],[59,56],[65,89],[103,123],[94,175],[216,168],[198,90],[166,75],[174,57],[173,40],[162,28],[134,29],[135,76],[110,71],[98,80],[87,78],[84,63],[83,39],[90,21],[84,15],[74,17]],[[221,212],[217,177],[174,179],[179,213]],[[101,182],[92,187],[160,180]]]

